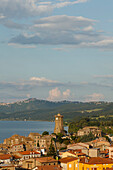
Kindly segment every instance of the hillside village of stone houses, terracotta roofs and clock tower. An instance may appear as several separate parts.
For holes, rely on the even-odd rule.
[[[95,140],[74,142],[92,134]],[[112,141],[112,138],[110,138]],[[68,134],[63,116],[55,116],[54,133],[31,132],[27,137],[15,134],[0,144],[1,170],[113,170],[113,145],[96,126],[87,126],[77,134]]]

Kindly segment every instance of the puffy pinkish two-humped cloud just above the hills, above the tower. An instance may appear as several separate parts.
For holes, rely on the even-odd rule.
[[[49,91],[49,97],[47,100],[50,101],[59,101],[59,100],[66,100],[70,97],[70,90],[67,89],[63,93],[58,89],[58,87]]]

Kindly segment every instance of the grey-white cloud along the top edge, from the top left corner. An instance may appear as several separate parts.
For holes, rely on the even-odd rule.
[[[57,0],[45,2],[40,0],[0,0],[1,15],[10,18],[32,17],[47,14],[55,8],[62,8],[77,3],[85,3],[87,0],[64,1]]]

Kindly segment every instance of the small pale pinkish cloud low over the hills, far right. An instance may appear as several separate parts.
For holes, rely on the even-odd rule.
[[[91,95],[86,96],[86,102],[93,102],[93,101],[100,101],[103,100],[105,97],[101,93],[93,93]]]

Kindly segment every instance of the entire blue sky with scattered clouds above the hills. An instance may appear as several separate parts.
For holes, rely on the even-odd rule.
[[[0,0],[0,102],[113,102],[113,0]]]

